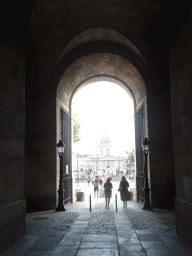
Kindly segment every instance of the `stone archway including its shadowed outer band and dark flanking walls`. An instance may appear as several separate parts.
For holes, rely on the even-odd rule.
[[[29,140],[30,146],[26,150],[25,157],[25,198],[29,206],[34,205],[32,210],[53,209],[57,204],[59,159],[56,144],[61,136],[58,110],[62,108],[67,115],[70,115],[73,93],[88,80],[93,81],[96,77],[97,80],[115,79],[116,83],[122,81],[121,86],[124,89],[129,88],[126,90],[134,95],[135,113],[138,111],[140,123],[137,127],[143,129],[142,133],[137,132],[141,135],[139,140],[141,142],[142,136],[148,136],[151,141],[149,178],[153,206],[172,207],[174,168],[172,141],[169,136],[171,112],[164,111],[170,110],[170,100],[161,90],[161,84],[155,84],[143,57],[130,45],[119,42],[118,38],[117,40],[115,38],[108,40],[106,37],[96,40],[92,38],[75,44],[66,51],[50,76],[52,80],[49,81],[51,85],[49,89],[46,87],[43,91],[38,90],[41,92],[38,97],[28,102],[29,108],[31,104],[34,108],[38,106],[36,122],[28,123],[30,131],[34,130],[36,137],[35,140]],[[138,80],[134,80],[135,77]],[[142,107],[141,112],[140,107]],[[70,134],[67,137],[70,147]],[[137,145],[141,147],[140,142]],[[37,152],[41,153],[41,157]],[[142,152],[140,155],[142,156]],[[139,162],[142,165],[142,161]],[[37,175],[38,179],[36,179]]]

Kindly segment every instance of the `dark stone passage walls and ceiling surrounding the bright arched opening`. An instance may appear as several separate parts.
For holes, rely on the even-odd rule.
[[[137,159],[141,137],[151,142],[153,207],[174,209],[176,233],[192,245],[191,10],[157,0],[2,4],[0,253],[25,236],[26,208],[56,208],[61,109],[71,117],[75,92],[101,80],[133,96]]]

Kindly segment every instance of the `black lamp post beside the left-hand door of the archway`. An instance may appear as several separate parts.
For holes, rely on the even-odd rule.
[[[60,181],[59,181],[59,190],[58,190],[58,206],[56,211],[65,211],[64,207],[64,190],[63,190],[63,155],[65,150],[65,144],[62,140],[57,144],[57,150],[60,158]]]

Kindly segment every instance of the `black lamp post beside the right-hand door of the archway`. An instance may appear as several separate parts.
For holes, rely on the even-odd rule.
[[[151,204],[150,204],[150,198],[149,198],[149,184],[148,184],[148,172],[147,172],[147,155],[148,155],[148,151],[149,151],[149,144],[150,141],[148,140],[148,138],[144,138],[144,141],[142,143],[143,146],[143,152],[145,155],[145,167],[144,167],[144,175],[145,175],[145,183],[144,183],[144,192],[145,192],[145,198],[144,198],[144,206],[143,206],[143,210],[153,210]]]

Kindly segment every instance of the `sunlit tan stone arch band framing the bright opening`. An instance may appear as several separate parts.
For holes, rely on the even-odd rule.
[[[134,112],[142,107],[143,127],[140,127],[140,133],[148,136],[147,126],[147,95],[144,81],[139,71],[124,58],[110,53],[94,53],[79,58],[70,65],[63,73],[57,88],[57,141],[61,139],[60,135],[62,125],[60,124],[60,110],[64,109],[71,115],[71,102],[74,94],[88,83],[96,81],[111,81],[120,85],[133,99]],[[145,113],[145,114],[144,114]],[[137,129],[139,132],[139,130]],[[136,135],[136,144],[139,136]],[[67,143],[67,142],[66,142]],[[70,149],[69,149],[70,150]],[[143,163],[138,165],[138,157],[142,155],[141,145],[136,147],[136,167],[138,186],[138,200],[143,200]],[[66,152],[69,154],[69,152]],[[142,162],[142,157],[139,159]],[[70,163],[67,163],[70,165]],[[65,167],[64,167],[65,169]],[[58,172],[58,171],[57,171]],[[139,174],[139,175],[138,175]],[[67,177],[67,176],[66,176]],[[138,177],[140,177],[138,179]],[[142,179],[142,180],[141,180]],[[58,183],[58,182],[57,182]]]

